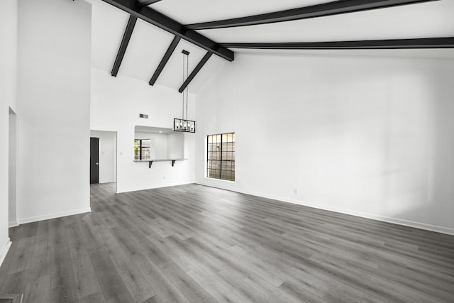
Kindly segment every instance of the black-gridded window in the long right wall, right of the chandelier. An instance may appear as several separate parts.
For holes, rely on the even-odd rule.
[[[235,181],[235,133],[207,136],[206,176]]]

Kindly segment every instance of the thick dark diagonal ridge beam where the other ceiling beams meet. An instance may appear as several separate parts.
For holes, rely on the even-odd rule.
[[[181,23],[165,16],[164,14],[152,9],[150,6],[140,7],[135,0],[103,0],[104,2],[116,6],[118,9],[131,13],[131,15],[142,19],[145,22],[153,24],[164,31],[177,35],[179,38],[189,41],[200,48],[204,48],[219,57],[228,61],[233,61],[233,51],[223,48],[213,40],[206,38],[196,31],[189,30]]]

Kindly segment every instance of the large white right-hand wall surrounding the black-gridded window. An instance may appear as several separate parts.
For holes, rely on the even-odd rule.
[[[454,233],[453,83],[453,60],[237,54],[197,94],[196,182]],[[204,177],[224,132],[236,182]]]

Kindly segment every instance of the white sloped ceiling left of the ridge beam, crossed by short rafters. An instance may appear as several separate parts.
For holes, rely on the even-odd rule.
[[[92,67],[111,72],[129,15],[104,1],[87,1],[92,3]],[[173,38],[170,33],[138,19],[118,75],[149,82]],[[181,86],[183,49],[190,53],[189,72],[206,53],[206,50],[180,40],[156,84],[173,89]],[[189,91],[196,92],[222,66],[223,61],[225,60],[212,56],[189,85]]]

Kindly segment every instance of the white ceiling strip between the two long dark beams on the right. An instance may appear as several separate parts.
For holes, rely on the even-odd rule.
[[[445,37],[454,35],[454,0],[199,32],[219,43]]]

